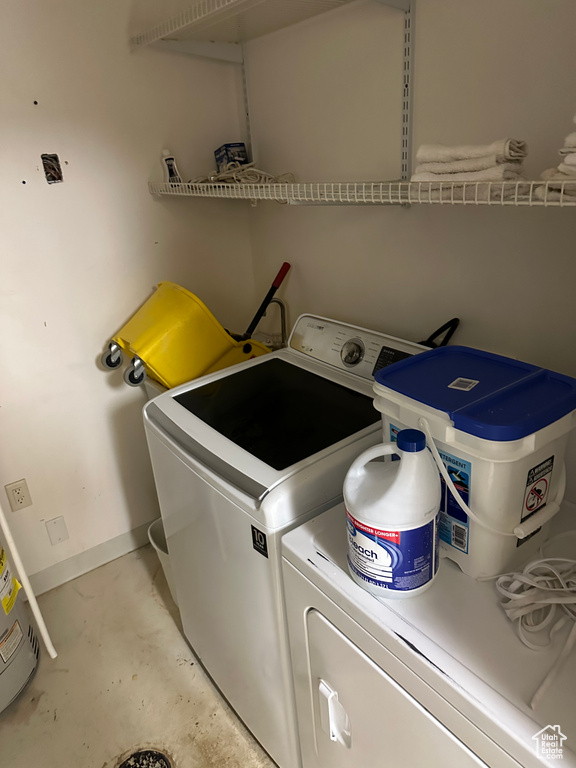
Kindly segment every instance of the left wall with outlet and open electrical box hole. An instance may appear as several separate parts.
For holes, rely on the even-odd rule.
[[[254,308],[246,212],[158,202],[146,187],[162,178],[163,147],[189,177],[238,140],[234,68],[130,52],[146,19],[129,5],[3,8],[0,487],[28,481],[27,509],[1,494],[30,573],[158,515],[143,392],[99,368],[108,339],[161,280],[228,327],[243,330]],[[59,155],[63,183],[47,184],[44,152]],[[52,547],[44,521],[60,515],[70,538]]]

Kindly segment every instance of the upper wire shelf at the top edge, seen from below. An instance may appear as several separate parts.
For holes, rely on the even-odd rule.
[[[242,43],[349,2],[352,0],[201,0],[130,42],[137,47],[171,37]]]

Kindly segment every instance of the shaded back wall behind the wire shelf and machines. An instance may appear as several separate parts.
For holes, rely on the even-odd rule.
[[[572,0],[417,0],[415,15],[414,148],[514,137],[528,142],[529,178],[557,165],[576,130]],[[299,181],[398,178],[401,19],[367,0],[250,43],[263,168]],[[303,117],[311,108],[313,121]],[[576,375],[574,210],[251,213],[257,280],[281,259],[293,264],[293,317],[316,312],[419,341],[458,316],[456,343]],[[571,466],[576,499],[574,449]]]

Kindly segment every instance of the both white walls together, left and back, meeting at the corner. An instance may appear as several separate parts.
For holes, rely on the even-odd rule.
[[[573,210],[153,200],[163,147],[194,177],[242,138],[234,67],[129,51],[182,4],[5,4],[0,486],[28,480],[33,506],[8,516],[31,573],[158,514],[142,392],[97,361],[160,280],[243,329],[288,260],[292,321],[316,312],[420,340],[458,315],[455,341],[576,375]],[[249,44],[262,167],[398,177],[402,21],[360,0]],[[575,127],[575,23],[573,0],[418,0],[414,146],[514,136],[530,176],[555,165]],[[65,163],[63,184],[46,183],[42,152]],[[44,521],[59,515],[70,539],[52,547]]]

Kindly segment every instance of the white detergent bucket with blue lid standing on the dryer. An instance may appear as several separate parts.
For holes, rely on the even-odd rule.
[[[493,529],[470,519],[443,482],[441,554],[475,578],[531,557],[564,496],[576,380],[466,347],[425,352],[375,378],[384,441],[425,422],[463,500]]]

